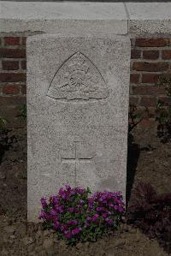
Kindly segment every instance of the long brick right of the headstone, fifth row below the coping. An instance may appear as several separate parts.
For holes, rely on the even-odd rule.
[[[134,95],[159,95],[165,94],[165,88],[163,86],[132,86]]]

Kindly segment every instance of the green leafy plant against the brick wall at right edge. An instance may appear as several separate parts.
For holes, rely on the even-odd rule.
[[[156,104],[157,136],[161,138],[162,143],[166,143],[171,139],[171,74],[161,75],[158,84],[164,86],[169,98],[168,106],[165,106],[161,99]]]

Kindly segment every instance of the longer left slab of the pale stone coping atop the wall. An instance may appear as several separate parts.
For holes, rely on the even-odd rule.
[[[1,32],[127,33],[123,3],[1,2]]]

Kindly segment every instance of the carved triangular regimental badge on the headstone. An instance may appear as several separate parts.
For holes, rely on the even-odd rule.
[[[56,99],[101,99],[109,96],[102,74],[88,57],[74,53],[57,70],[47,96]]]

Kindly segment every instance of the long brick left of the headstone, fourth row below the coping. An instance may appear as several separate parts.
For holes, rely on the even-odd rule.
[[[20,82],[26,80],[27,74],[25,73],[0,73],[1,82]]]

